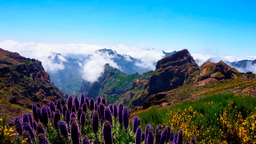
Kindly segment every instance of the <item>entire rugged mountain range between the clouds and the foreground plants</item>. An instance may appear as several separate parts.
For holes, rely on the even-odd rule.
[[[120,59],[127,62],[124,58],[126,56],[107,49],[99,51],[117,55],[116,61],[119,59],[119,65],[127,71],[134,68],[135,61],[138,61],[134,59],[134,63],[125,65]],[[0,114],[8,113],[7,119],[12,119],[23,112],[31,111],[34,103],[40,106],[56,99],[65,103],[68,95],[61,92],[64,88],[94,99],[105,94],[107,103],[123,102],[134,110],[147,109],[152,105],[174,106],[216,93],[232,92],[250,94],[252,97],[256,95],[256,78],[251,72],[240,73],[223,61],[205,62],[198,66],[187,49],[166,55],[168,56],[156,63],[154,71],[144,73],[125,73],[107,63],[98,81],[89,83],[83,81],[81,75],[79,77],[79,62],[86,58],[65,57],[65,61],[62,61],[65,69],[49,74],[40,61],[0,49]],[[61,62],[59,56],[63,57],[55,54],[50,58]],[[244,61],[238,63],[242,65]],[[65,85],[56,87],[55,83]]]

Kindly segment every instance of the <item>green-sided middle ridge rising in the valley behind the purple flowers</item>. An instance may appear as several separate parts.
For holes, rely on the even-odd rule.
[[[83,91],[83,85],[86,85],[86,82],[83,81],[80,92],[87,93],[87,97],[93,98],[96,98],[98,95],[106,94],[110,102],[122,101],[126,103],[130,99],[130,95],[128,95],[130,90],[135,89],[135,87],[137,88],[139,85],[141,86],[143,81],[147,81],[151,72],[152,71],[143,74],[135,73],[127,75],[119,69],[106,64],[102,77],[91,85],[88,92]],[[139,89],[142,89],[142,87]]]

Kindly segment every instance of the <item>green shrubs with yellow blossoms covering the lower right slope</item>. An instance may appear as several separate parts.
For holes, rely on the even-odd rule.
[[[169,109],[152,107],[136,114],[146,123],[183,130],[183,141],[197,143],[256,143],[256,98],[216,94]]]

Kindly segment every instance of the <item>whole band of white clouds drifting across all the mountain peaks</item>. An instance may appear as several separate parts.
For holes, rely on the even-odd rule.
[[[42,61],[42,65],[48,72],[57,72],[65,68],[63,62],[67,62],[65,57],[70,54],[85,55],[88,57],[86,61],[79,62],[79,66],[82,68],[82,78],[89,82],[95,82],[104,72],[104,65],[109,63],[110,66],[119,68],[117,63],[113,61],[115,55],[109,55],[108,53],[97,51],[99,49],[112,49],[117,51],[118,54],[124,55],[127,61],[130,61],[130,57],[140,59],[140,62],[135,63],[135,65],[142,68],[148,68],[151,70],[155,69],[155,63],[162,59],[165,54],[162,50],[158,49],[146,49],[145,46],[135,47],[135,46],[103,46],[103,45],[90,45],[83,43],[69,43],[69,44],[59,44],[59,43],[36,43],[36,42],[18,42],[13,40],[6,40],[0,42],[0,47],[2,49],[17,52],[26,58],[35,58]],[[166,52],[171,52],[173,50],[167,50]],[[56,55],[60,53],[61,55]],[[54,55],[57,56],[60,62],[56,63],[54,61]],[[207,59],[211,58],[212,61],[218,62],[223,61],[241,61],[243,59],[254,60],[255,56],[216,56],[211,54],[200,54],[191,53],[194,59],[197,59],[198,65],[202,65]],[[51,57],[49,57],[51,56]],[[248,67],[238,70],[242,72],[252,71],[256,73],[256,65],[247,64]]]

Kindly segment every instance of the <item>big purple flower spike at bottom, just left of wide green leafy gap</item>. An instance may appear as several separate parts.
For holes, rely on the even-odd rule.
[[[105,144],[112,144],[113,143],[112,130],[111,130],[111,123],[109,121],[106,121],[103,124],[102,133],[103,133],[103,139],[105,141]]]

